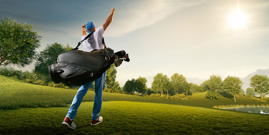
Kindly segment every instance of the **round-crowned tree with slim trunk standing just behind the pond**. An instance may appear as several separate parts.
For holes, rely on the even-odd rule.
[[[243,83],[239,77],[227,76],[223,81],[223,88],[227,91],[227,93],[233,95],[235,101],[235,95],[241,92],[242,84]]]

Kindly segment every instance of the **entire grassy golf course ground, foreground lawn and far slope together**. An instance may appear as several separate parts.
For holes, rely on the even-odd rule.
[[[34,85],[0,75],[0,134],[269,134],[266,114],[212,108],[215,105],[268,104],[240,96],[189,101],[103,93],[101,124],[90,125],[94,91],[83,98],[76,130],[61,125],[76,90]]]

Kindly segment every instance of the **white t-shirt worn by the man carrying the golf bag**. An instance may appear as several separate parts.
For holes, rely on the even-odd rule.
[[[101,26],[97,28],[95,32],[88,39],[83,41],[82,43],[83,43],[85,51],[91,52],[94,49],[103,49],[103,46],[102,46],[103,34],[104,34],[104,28],[103,26]],[[83,35],[81,37],[81,40],[83,40],[87,35]]]

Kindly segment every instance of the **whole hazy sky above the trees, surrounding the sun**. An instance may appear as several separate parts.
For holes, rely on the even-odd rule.
[[[0,18],[33,25],[42,36],[41,51],[54,42],[75,47],[83,24],[100,27],[115,8],[104,39],[107,47],[130,56],[130,62],[117,67],[116,81],[123,86],[141,76],[151,87],[157,73],[179,73],[198,85],[212,74],[223,80],[228,75],[243,79],[258,70],[267,74],[268,7],[268,0],[1,0]],[[247,18],[239,28],[229,24],[237,10]],[[32,70],[34,62],[16,68]]]

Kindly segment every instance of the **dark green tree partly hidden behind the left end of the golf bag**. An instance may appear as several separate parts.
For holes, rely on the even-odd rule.
[[[63,52],[68,52],[72,48],[67,44],[47,44],[46,48],[38,53],[37,61],[35,63],[34,71],[40,75],[40,78],[45,82],[51,82],[48,66],[57,61],[58,56]]]

